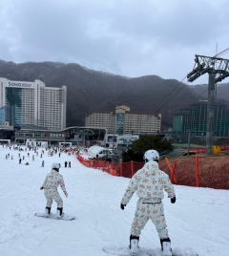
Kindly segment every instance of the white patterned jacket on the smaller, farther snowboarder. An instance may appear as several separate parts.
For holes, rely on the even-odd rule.
[[[42,187],[44,187],[44,189],[50,189],[50,188],[53,189],[54,188],[57,190],[58,185],[60,185],[63,192],[66,191],[63,176],[61,174],[59,174],[59,172],[52,169],[52,171],[46,176],[46,179],[45,179]]]

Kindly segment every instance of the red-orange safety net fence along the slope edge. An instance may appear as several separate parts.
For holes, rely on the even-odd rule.
[[[223,149],[227,149],[224,146]],[[109,162],[104,160],[84,160],[76,155],[77,160],[87,167],[99,169],[113,176],[132,178],[135,172],[141,169],[144,162]],[[214,164],[216,162],[220,164]],[[169,175],[172,182],[179,185],[210,187],[216,189],[229,189],[228,156],[213,156],[212,158],[198,155],[183,157],[174,160],[171,166],[167,159],[159,161],[160,170]],[[217,168],[216,168],[217,166]]]

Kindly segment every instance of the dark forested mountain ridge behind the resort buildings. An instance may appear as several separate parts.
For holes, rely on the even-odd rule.
[[[0,60],[0,76],[19,81],[41,79],[47,87],[66,85],[67,126],[84,125],[87,114],[114,111],[116,105],[124,104],[133,112],[162,114],[162,129],[167,129],[172,126],[173,115],[194,103],[204,87],[157,75],[130,78],[58,62],[15,64]],[[229,86],[222,89],[225,98]]]

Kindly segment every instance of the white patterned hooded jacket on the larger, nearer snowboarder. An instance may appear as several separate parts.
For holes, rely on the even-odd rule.
[[[131,179],[121,203],[127,204],[135,191],[142,203],[159,203],[164,198],[163,189],[168,193],[169,198],[175,196],[174,185],[169,176],[159,170],[158,163],[150,160],[138,170]]]

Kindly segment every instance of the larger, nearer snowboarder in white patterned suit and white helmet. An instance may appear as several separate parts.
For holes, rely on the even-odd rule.
[[[163,203],[165,190],[171,203],[176,202],[174,185],[168,175],[158,168],[159,155],[156,150],[148,150],[144,154],[145,164],[131,179],[121,200],[120,207],[124,210],[130,202],[135,191],[139,197],[136,203],[135,219],[132,224],[130,236],[130,249],[132,255],[137,255],[138,242],[141,230],[149,219],[156,225],[160,239],[162,255],[172,255],[171,241],[168,235],[164,217]]]

